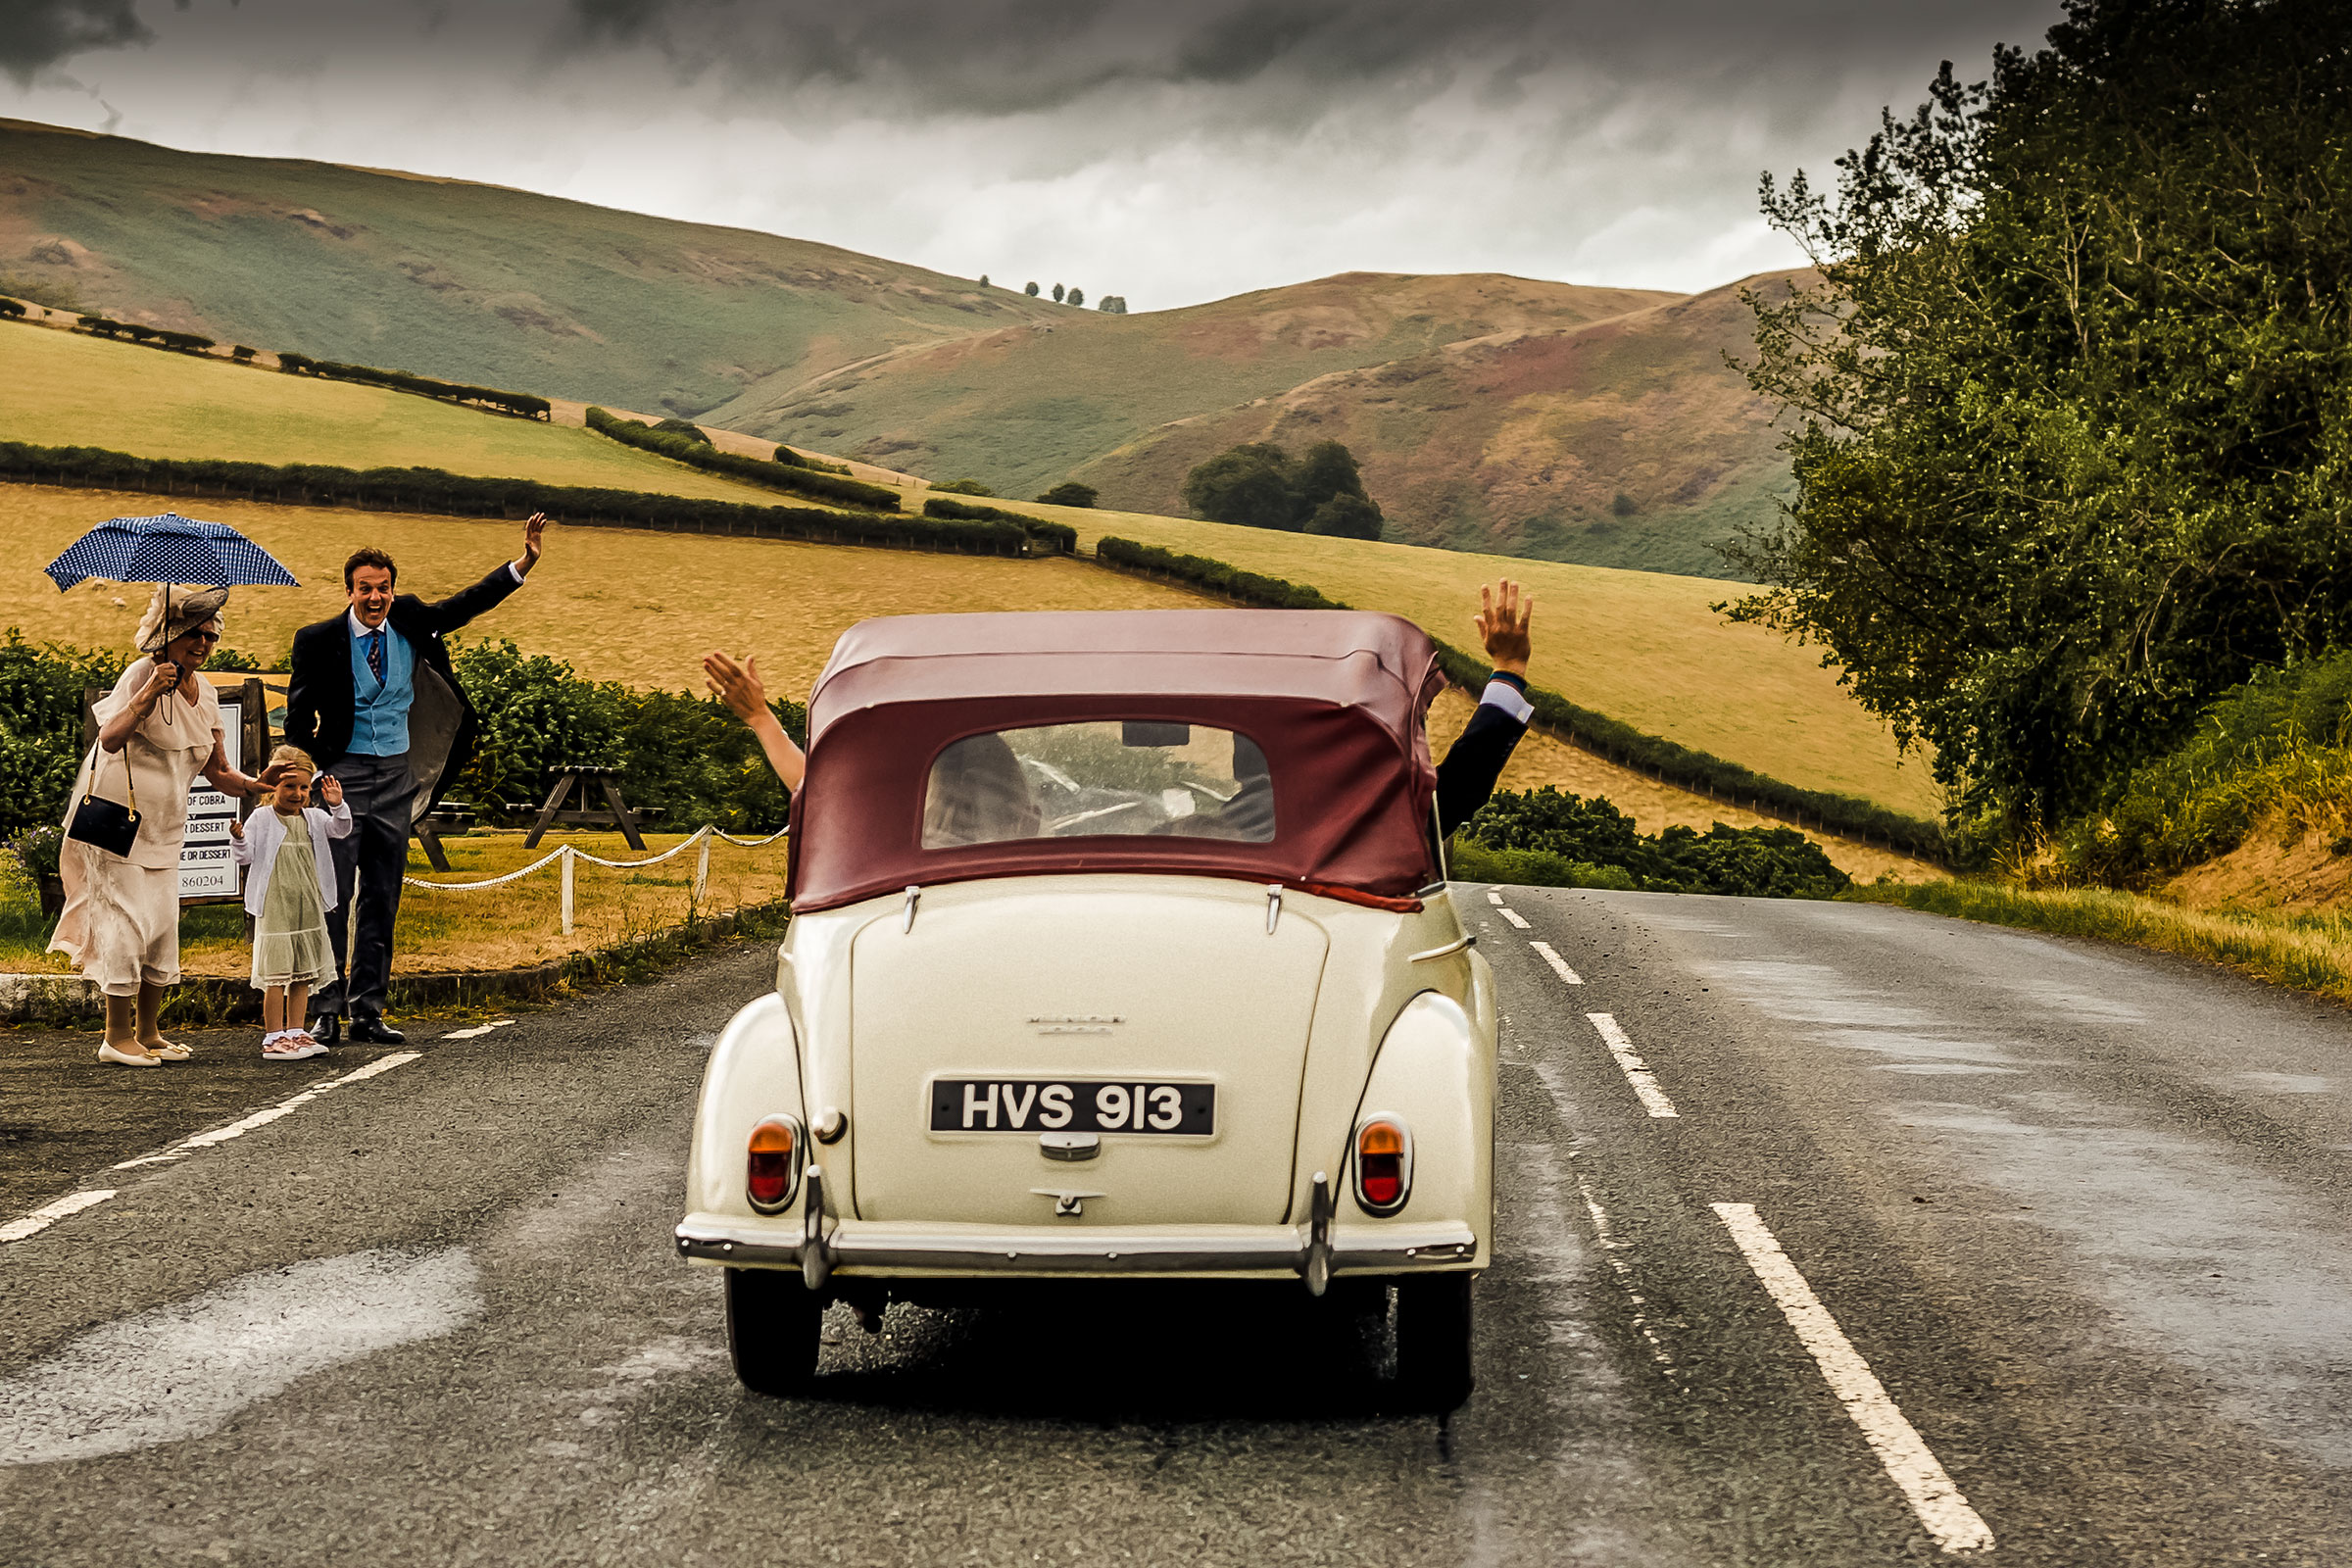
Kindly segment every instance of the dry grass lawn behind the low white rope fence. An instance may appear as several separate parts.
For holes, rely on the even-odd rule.
[[[661,853],[687,835],[644,835],[647,853]],[[449,875],[426,865],[409,846],[409,875],[435,882],[477,882],[501,877],[539,860],[560,844],[572,844],[607,860],[637,860],[619,832],[550,832],[536,851],[524,853],[520,832],[482,832],[445,839]],[[694,898],[696,851],[684,851],[663,865],[644,870],[607,870],[574,865],[574,929],[562,933],[562,865],[510,882],[501,889],[433,893],[407,889],[400,900],[400,926],[393,936],[393,973],[492,971],[546,964],[574,952],[595,952],[619,943],[675,929],[689,914],[713,919],[743,907],[783,898],[783,839],[762,849],[710,844],[710,882],[701,903]],[[21,898],[24,889],[14,889]],[[252,973],[252,950],[245,945],[242,912],[235,905],[200,905],[181,917],[181,973],[245,976]],[[61,954],[42,952],[40,940],[0,943],[0,971],[71,973]]]

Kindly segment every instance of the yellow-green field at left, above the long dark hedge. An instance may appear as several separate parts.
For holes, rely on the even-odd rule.
[[[710,501],[793,501],[588,430],[348,381],[0,322],[0,437],[148,458],[447,468]]]

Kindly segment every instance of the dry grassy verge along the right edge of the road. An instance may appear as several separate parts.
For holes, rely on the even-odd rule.
[[[2256,980],[2352,1001],[2352,919],[2183,910],[2138,893],[2063,889],[2034,893],[1997,882],[1858,886],[1844,898],[1893,903],[1997,926],[2096,936],[2223,964]]]

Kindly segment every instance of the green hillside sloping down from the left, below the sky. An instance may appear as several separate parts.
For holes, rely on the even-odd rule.
[[[741,228],[21,120],[0,120],[0,292],[670,414],[903,343],[1084,315]]]

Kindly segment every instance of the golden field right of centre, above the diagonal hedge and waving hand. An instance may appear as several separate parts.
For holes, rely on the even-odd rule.
[[[1536,592],[1534,679],[1635,729],[1740,762],[1759,773],[1860,795],[1898,811],[1940,806],[1922,759],[1898,766],[1886,726],[1863,712],[1811,649],[1708,609],[1738,585],[1656,571],[1611,571],[1421,545],[1237,529],[1221,522],[1030,508],[1103,534],[1207,555],[1312,583],[1357,609],[1406,616],[1456,646],[1477,646],[1479,583],[1512,576]]]

